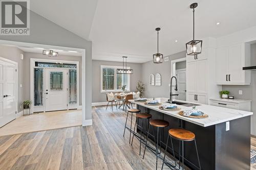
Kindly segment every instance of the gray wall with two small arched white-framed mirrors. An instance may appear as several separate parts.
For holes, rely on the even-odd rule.
[[[173,55],[169,55],[169,61],[163,61],[162,64],[154,64],[153,61],[142,63],[141,80],[145,84],[144,96],[146,98],[165,97],[169,98],[170,87],[170,62],[179,58],[186,57],[186,52],[180,52]],[[150,86],[149,76],[150,74],[161,75],[161,86]]]

